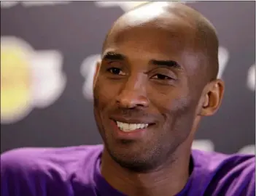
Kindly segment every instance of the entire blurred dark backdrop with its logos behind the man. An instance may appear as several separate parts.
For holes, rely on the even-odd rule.
[[[92,79],[112,23],[145,1],[1,1],[1,152],[99,144]],[[193,148],[255,154],[255,1],[189,1],[217,28],[222,107]]]

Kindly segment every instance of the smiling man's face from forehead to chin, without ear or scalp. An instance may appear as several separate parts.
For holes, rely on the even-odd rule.
[[[203,86],[190,34],[174,29],[117,28],[106,41],[94,113],[106,150],[122,166],[155,168],[193,127]]]

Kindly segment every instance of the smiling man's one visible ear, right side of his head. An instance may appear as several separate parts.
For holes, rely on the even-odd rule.
[[[224,88],[224,82],[220,79],[216,79],[206,85],[203,89],[203,96],[199,105],[201,110],[199,110],[198,115],[209,116],[217,112],[222,102]]]

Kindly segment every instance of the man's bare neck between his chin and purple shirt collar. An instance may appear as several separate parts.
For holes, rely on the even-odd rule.
[[[176,195],[189,178],[190,147],[179,147],[175,161],[166,161],[155,171],[137,173],[121,167],[104,150],[101,158],[101,174],[115,189],[125,195]],[[182,152],[182,153],[181,153]],[[185,152],[185,153],[184,153]],[[115,175],[113,175],[115,173]]]

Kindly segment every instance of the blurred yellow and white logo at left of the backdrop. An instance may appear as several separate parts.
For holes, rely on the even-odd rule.
[[[20,38],[1,37],[1,123],[20,121],[58,99],[66,84],[61,62],[56,51],[37,52]]]

